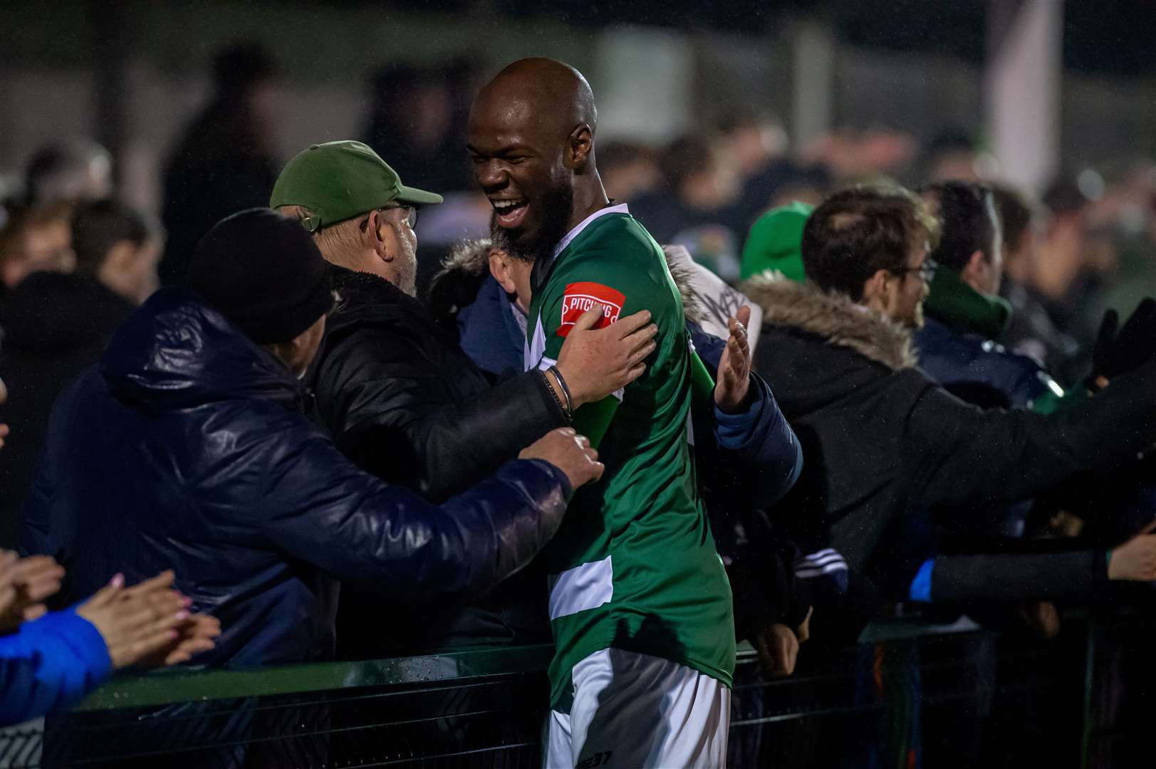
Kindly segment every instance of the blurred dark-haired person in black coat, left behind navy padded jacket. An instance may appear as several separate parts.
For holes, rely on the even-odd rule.
[[[57,395],[157,287],[161,235],[141,214],[109,200],[82,204],[69,239],[74,271],[35,272],[0,301],[5,419],[15,429],[0,463],[0,548],[15,545],[20,504]]]

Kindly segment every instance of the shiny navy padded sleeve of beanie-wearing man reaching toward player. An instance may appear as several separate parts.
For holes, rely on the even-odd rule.
[[[435,505],[358,471],[299,415],[286,420],[283,437],[260,449],[258,525],[287,554],[366,590],[410,600],[484,592],[562,523],[569,482],[549,463],[512,460]]]

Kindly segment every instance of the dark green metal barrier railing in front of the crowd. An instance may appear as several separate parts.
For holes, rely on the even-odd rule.
[[[875,626],[766,680],[741,651],[732,767],[1107,767],[1151,713],[1156,623],[1066,623],[1053,642]],[[1143,652],[1139,651],[1143,650]],[[540,766],[548,646],[113,680],[0,733],[3,767]],[[1141,683],[1138,683],[1141,681]],[[1121,695],[1122,693],[1122,695]],[[1144,708],[1147,707],[1147,711]],[[1050,763],[1040,762],[1042,757]],[[994,766],[994,764],[991,764]]]

